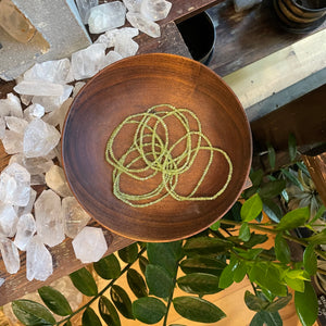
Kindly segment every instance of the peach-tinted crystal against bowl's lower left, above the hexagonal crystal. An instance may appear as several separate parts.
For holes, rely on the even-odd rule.
[[[70,238],[75,238],[90,221],[90,216],[75,197],[66,197],[62,200],[62,212],[65,235]]]

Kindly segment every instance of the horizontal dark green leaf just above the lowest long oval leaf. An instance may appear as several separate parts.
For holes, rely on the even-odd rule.
[[[192,294],[200,297],[205,294],[213,294],[220,292],[222,289],[218,287],[220,277],[204,273],[192,273],[181,276],[177,279],[178,287]]]

